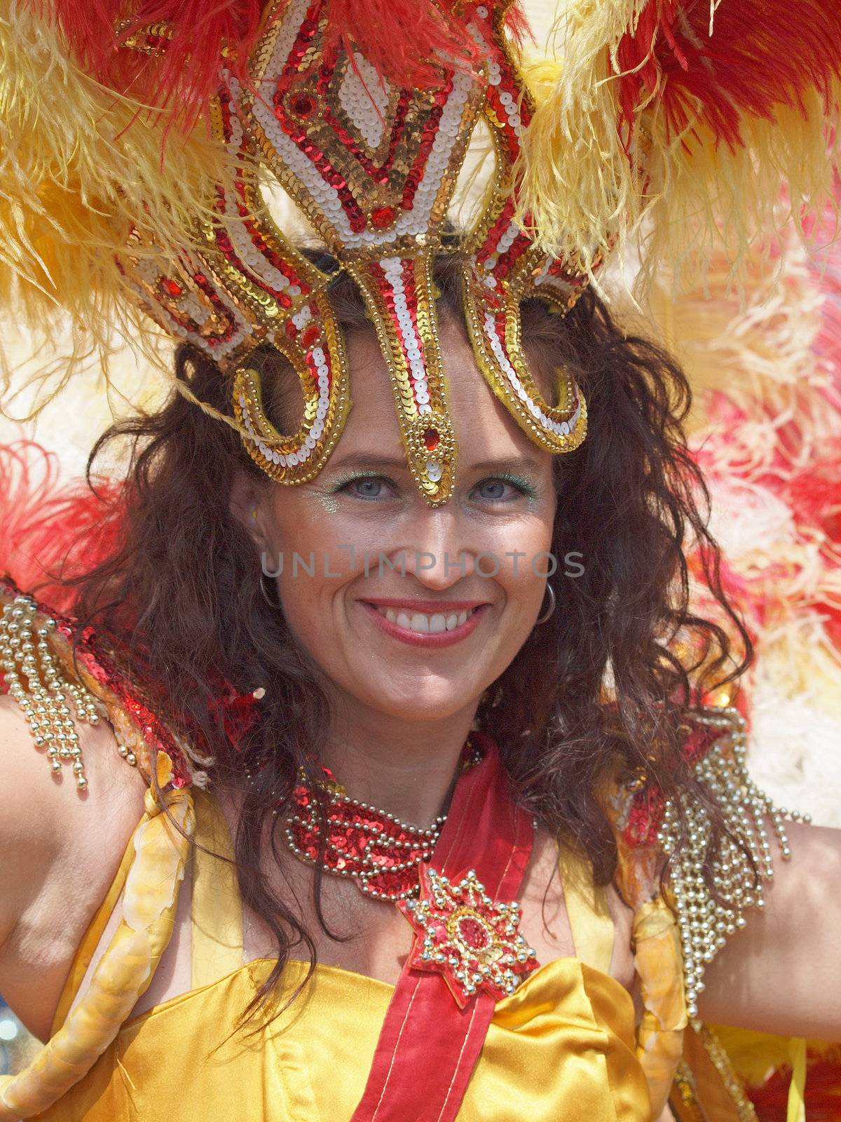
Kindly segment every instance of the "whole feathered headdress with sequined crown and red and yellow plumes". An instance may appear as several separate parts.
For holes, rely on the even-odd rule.
[[[841,11],[795,7],[570,0],[561,66],[529,89],[510,0],[3,0],[0,294],[33,323],[65,307],[100,341],[114,324],[142,334],[149,316],[230,378],[256,462],[312,479],[350,375],[331,274],[264,203],[279,183],[360,288],[412,473],[437,505],[456,441],[435,254],[459,250],[492,392],[540,447],[576,448],[583,397],[565,370],[553,401],[540,394],[520,304],[563,313],[649,213],[656,240],[694,259],[722,222],[749,239],[780,178],[795,208],[830,186]],[[495,156],[483,206],[444,245],[480,120]],[[252,355],[266,346],[299,378],[297,432],[264,410]]]

